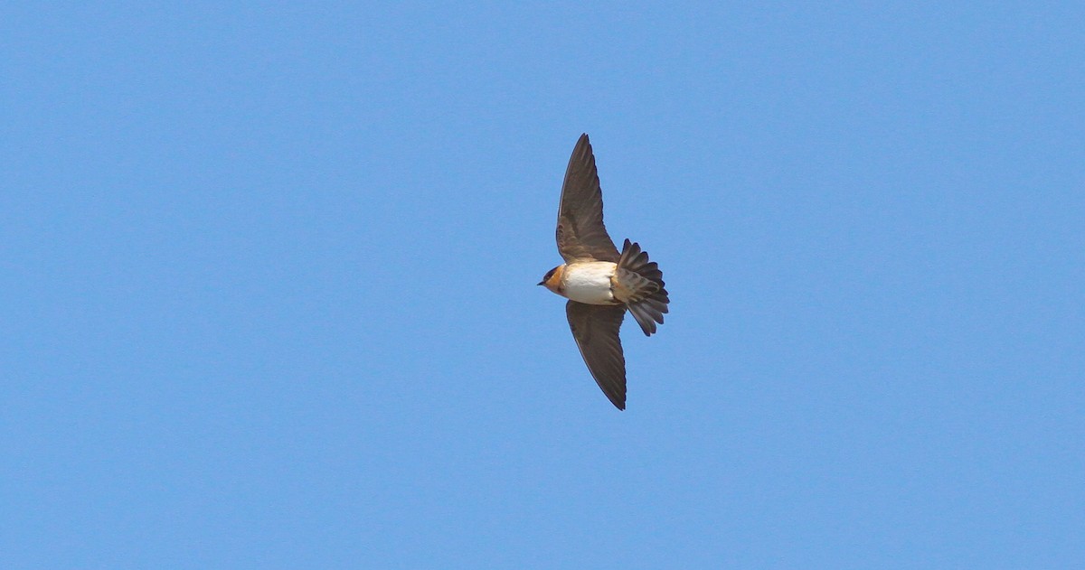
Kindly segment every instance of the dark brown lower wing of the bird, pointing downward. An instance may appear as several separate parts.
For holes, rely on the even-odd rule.
[[[625,410],[625,357],[618,329],[625,307],[569,301],[565,315],[591,377],[618,410]]]

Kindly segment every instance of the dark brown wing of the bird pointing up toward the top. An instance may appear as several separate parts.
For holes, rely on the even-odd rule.
[[[565,169],[558,207],[558,251],[575,259],[617,262],[618,252],[603,225],[603,193],[588,135],[582,134]]]

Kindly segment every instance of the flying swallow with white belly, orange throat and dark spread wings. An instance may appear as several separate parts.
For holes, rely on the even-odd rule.
[[[659,264],[628,238],[617,250],[603,225],[603,197],[596,157],[580,134],[565,169],[558,206],[558,252],[564,263],[538,285],[565,297],[565,316],[596,384],[625,410],[625,355],[618,332],[626,311],[644,336],[663,324],[671,302]]]

